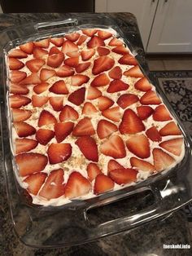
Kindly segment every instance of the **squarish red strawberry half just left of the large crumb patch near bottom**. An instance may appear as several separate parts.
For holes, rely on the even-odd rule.
[[[70,143],[51,143],[47,154],[50,165],[55,165],[63,161],[67,161],[72,155],[72,146]]]

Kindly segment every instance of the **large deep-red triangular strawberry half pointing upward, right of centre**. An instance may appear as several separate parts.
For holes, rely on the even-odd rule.
[[[136,134],[137,132],[145,129],[146,128],[142,123],[142,120],[137,117],[136,113],[134,113],[132,109],[128,108],[124,111],[124,116],[119,127],[122,135]]]

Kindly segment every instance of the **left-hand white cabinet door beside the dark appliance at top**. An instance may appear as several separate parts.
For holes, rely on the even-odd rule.
[[[181,1],[182,2],[182,1]],[[95,0],[95,12],[131,12],[137,24],[146,49],[158,0]]]

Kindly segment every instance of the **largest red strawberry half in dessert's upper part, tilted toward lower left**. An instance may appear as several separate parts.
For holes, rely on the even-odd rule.
[[[94,67],[92,69],[92,73],[94,75],[98,75],[99,73],[103,73],[111,69],[115,64],[115,60],[111,59],[108,56],[101,56],[98,59],[94,60]]]

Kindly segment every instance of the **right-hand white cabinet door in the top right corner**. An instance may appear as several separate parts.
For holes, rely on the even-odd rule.
[[[146,52],[192,52],[192,0],[159,0]]]

